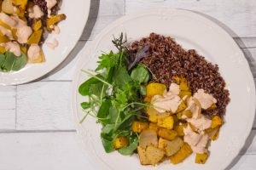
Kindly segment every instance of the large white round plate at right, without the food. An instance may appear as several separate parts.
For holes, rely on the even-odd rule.
[[[142,166],[137,155],[121,156],[117,151],[105,153],[100,139],[101,125],[90,116],[79,124],[84,116],[80,103],[85,100],[78,93],[79,85],[88,77],[81,72],[96,68],[97,56],[110,49],[113,35],[125,32],[128,41],[148,37],[150,32],[171,36],[182,44],[183,48],[194,48],[212,63],[218,64],[219,71],[230,89],[230,104],[227,107],[225,123],[221,128],[219,139],[212,142],[210,157],[205,165],[195,164],[195,155],[178,165],[170,161],[160,163],[157,167]],[[84,150],[95,169],[224,169],[238,155],[245,144],[253,126],[255,111],[255,87],[253,76],[244,54],[236,42],[221,27],[211,20],[193,12],[160,8],[138,14],[126,15],[104,29],[90,47],[80,54],[80,62],[73,81],[73,116],[77,130],[84,143]]]

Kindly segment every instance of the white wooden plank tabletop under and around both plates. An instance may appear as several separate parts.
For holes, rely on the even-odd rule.
[[[91,1],[90,19],[84,34],[63,64],[38,82],[0,87],[0,170],[94,169],[80,147],[70,108],[73,72],[78,61],[76,54],[105,26],[125,14],[158,5],[207,14],[228,29],[247,54],[256,78],[255,0]],[[254,120],[247,144],[229,168],[256,169],[255,134]]]

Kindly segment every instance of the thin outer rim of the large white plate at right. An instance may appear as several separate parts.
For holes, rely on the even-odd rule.
[[[107,27],[105,27],[102,31],[100,31],[99,34],[97,34],[96,38],[90,43],[90,45],[88,47],[84,47],[83,50],[81,50],[79,52],[79,56],[82,56],[84,53],[88,53],[88,50],[90,48],[93,48],[97,42],[99,42],[102,38],[102,36],[104,36],[106,33],[108,33],[108,31],[110,31],[111,29],[113,29],[115,26],[118,26],[119,22],[123,21],[123,20],[129,20],[129,19],[133,19],[134,17],[136,17],[137,15],[141,16],[143,14],[150,14],[150,13],[154,13],[154,12],[158,12],[160,10],[173,10],[175,11],[183,11],[185,13],[190,13],[190,14],[194,14],[198,17],[201,17],[204,20],[207,20],[208,23],[210,23],[212,26],[215,26],[218,28],[219,31],[222,31],[224,34],[226,34],[227,37],[229,37],[230,42],[233,43],[233,45],[236,46],[236,48],[239,49],[239,53],[242,55],[242,59],[244,59],[244,66],[247,69],[247,77],[248,77],[248,82],[250,83],[250,85],[252,86],[252,98],[253,98],[253,105],[251,106],[251,110],[252,111],[252,119],[251,122],[247,122],[247,131],[246,134],[243,136],[243,139],[241,139],[241,142],[239,144],[239,146],[237,147],[238,149],[236,149],[236,151],[234,151],[233,157],[232,159],[230,159],[229,161],[225,161],[224,163],[224,168],[230,167],[233,164],[233,161],[236,160],[236,157],[239,155],[240,151],[242,150],[243,146],[246,144],[247,139],[251,133],[252,127],[253,127],[253,122],[254,122],[254,118],[255,118],[255,110],[256,110],[256,104],[255,104],[255,82],[253,79],[253,73],[250,69],[247,57],[245,56],[245,54],[242,52],[241,48],[238,46],[238,44],[235,42],[235,40],[233,39],[233,37],[230,36],[230,33],[222,26],[219,26],[218,23],[216,23],[214,20],[209,19],[206,15],[201,14],[199,11],[194,11],[194,10],[189,10],[189,9],[183,9],[183,8],[170,8],[170,7],[160,7],[160,8],[147,8],[147,9],[143,9],[140,12],[136,12],[136,13],[131,13],[131,14],[126,14],[125,16],[120,17],[117,20],[114,20],[111,24],[109,24]],[[216,19],[217,20],[217,19]],[[90,59],[92,58],[92,56],[90,56],[86,62],[90,61]],[[79,139],[82,141],[83,136],[82,136],[82,131],[84,130],[82,125],[79,124],[79,119],[78,119],[78,114],[77,114],[77,94],[78,93],[78,87],[79,87],[79,72],[82,68],[82,66],[85,64],[85,62],[83,63],[82,61],[84,61],[83,57],[80,57],[79,59],[79,65],[77,65],[77,68],[75,70],[74,76],[73,76],[73,85],[72,85],[72,100],[71,100],[71,104],[72,104],[72,114],[73,114],[73,121],[75,123],[75,127],[77,130],[77,133],[79,135]],[[83,142],[83,141],[82,141]],[[84,144],[83,144],[84,147]],[[86,152],[84,150],[84,152]],[[85,153],[86,155],[88,155],[89,153]],[[90,156],[87,156],[88,161],[92,162],[93,158],[91,158]],[[102,161],[102,160],[101,160]],[[101,162],[102,163],[102,162]],[[108,167],[108,165],[106,165],[104,163],[104,165],[106,166],[106,168]],[[234,165],[233,165],[234,166]],[[232,166],[232,167],[233,167]],[[110,167],[108,167],[109,169],[111,169]]]

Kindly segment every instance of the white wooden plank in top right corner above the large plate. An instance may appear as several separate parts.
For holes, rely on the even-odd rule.
[[[255,0],[126,0],[125,13],[130,14],[146,8],[185,8],[207,14],[228,26],[232,37],[256,37]]]

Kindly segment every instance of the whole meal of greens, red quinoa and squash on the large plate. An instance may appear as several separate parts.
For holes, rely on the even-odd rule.
[[[105,151],[137,153],[142,165],[178,164],[193,153],[195,163],[206,163],[230,101],[218,65],[155,33],[136,42],[121,34],[113,45],[117,52],[84,71],[81,123],[95,117]]]

